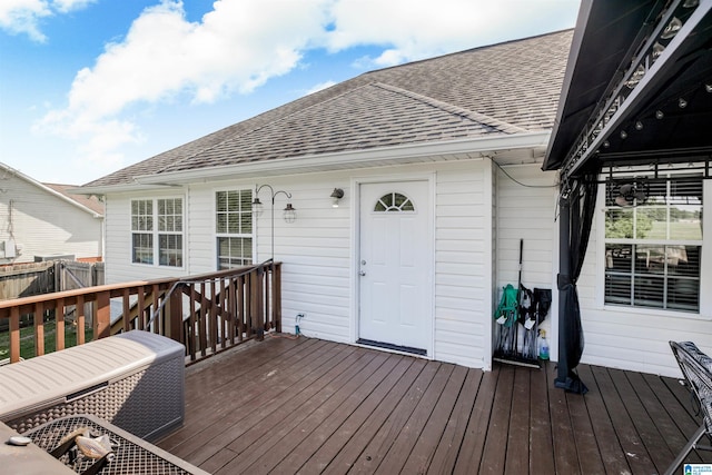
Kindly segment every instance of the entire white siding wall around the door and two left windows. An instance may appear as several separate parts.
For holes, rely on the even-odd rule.
[[[250,181],[226,180],[191,185],[160,195],[108,197],[107,279],[110,283],[200,274],[216,269],[215,192],[254,189],[269,184],[291,194],[295,222],[283,212],[287,199],[275,197],[275,260],[283,267],[283,330],[294,331],[295,317],[306,336],[354,343],[358,338],[358,239],[356,202],[358,182],[373,180],[432,180],[434,196],[434,355],[438,360],[488,367],[492,313],[492,169],[482,160],[441,165],[388,167],[356,172],[270,177]],[[343,188],[338,208],[329,195]],[[130,200],[184,196],[186,226],[185,268],[159,268],[130,263]],[[269,190],[255,230],[255,261],[270,257]]]

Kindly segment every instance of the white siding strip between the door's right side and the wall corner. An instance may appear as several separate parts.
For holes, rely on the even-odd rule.
[[[435,358],[490,368],[492,172],[484,161],[437,172]]]

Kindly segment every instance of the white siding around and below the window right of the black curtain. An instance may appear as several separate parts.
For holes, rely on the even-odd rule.
[[[704,182],[704,204],[712,204],[712,182]],[[670,350],[670,340],[692,340],[712,354],[712,315],[710,294],[712,269],[712,220],[704,220],[702,313],[684,314],[655,309],[631,309],[603,305],[603,191],[599,194],[594,229],[578,279],[585,349],[582,362],[621,369],[662,374],[676,377],[680,369]],[[704,215],[705,218],[709,212]]]

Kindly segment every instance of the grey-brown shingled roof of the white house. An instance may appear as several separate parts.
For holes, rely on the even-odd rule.
[[[553,128],[572,30],[366,72],[91,181]]]

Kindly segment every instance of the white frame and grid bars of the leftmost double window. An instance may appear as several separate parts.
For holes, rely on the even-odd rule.
[[[151,204],[150,214],[138,215],[138,229],[136,227],[137,221],[135,221],[136,215],[134,215],[134,204],[137,201],[145,201]],[[167,204],[168,201],[172,201],[174,212],[170,214],[159,214],[160,202]],[[175,212],[176,201],[180,202],[180,211]],[[160,198],[132,198],[129,204],[129,215],[130,215],[130,260],[134,265],[139,266],[150,266],[150,267],[165,267],[171,269],[180,269],[185,267],[186,259],[186,217],[185,217],[185,198],[181,196],[169,196],[169,197],[160,197]],[[150,237],[151,240],[151,261],[136,261],[135,260],[135,246],[134,246],[134,237],[137,235],[144,235]],[[167,254],[161,253],[161,240],[162,238],[171,238],[177,239],[180,245],[175,249],[169,249]],[[177,256],[174,259],[162,259],[170,256]],[[172,263],[172,264],[171,264]]]

